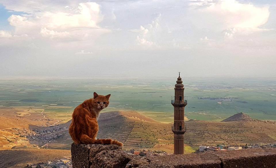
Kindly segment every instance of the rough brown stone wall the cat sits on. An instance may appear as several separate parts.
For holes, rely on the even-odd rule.
[[[253,148],[199,154],[137,156],[117,145],[72,144],[74,168],[276,168],[276,148]]]

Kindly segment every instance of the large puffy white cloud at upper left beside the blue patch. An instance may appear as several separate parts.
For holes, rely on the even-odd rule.
[[[99,35],[110,32],[98,25],[103,20],[103,15],[100,5],[95,2],[60,7],[56,11],[30,11],[26,6],[22,9],[30,14],[11,15],[8,18],[9,24],[15,27],[14,35],[26,34],[32,38],[42,36],[50,39],[70,37],[70,41],[92,41]]]

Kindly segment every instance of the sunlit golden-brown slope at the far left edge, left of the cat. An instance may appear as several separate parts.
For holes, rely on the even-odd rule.
[[[56,122],[48,119],[43,112],[32,109],[0,108],[0,150],[28,145],[30,142],[19,133],[32,134],[32,130],[43,129]]]

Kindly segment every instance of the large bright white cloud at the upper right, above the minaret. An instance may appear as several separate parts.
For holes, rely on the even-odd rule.
[[[228,37],[233,37],[237,31],[266,30],[261,26],[268,21],[268,6],[257,7],[237,0],[198,0],[192,4],[201,6],[196,9],[199,12],[195,18],[198,27],[224,31]]]

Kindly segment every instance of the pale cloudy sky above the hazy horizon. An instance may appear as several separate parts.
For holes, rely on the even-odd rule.
[[[276,77],[275,0],[0,0],[0,77]]]

